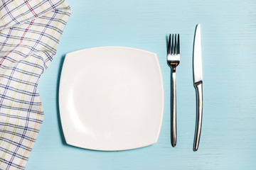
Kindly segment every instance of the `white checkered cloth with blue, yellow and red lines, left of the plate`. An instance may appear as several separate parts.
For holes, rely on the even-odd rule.
[[[43,121],[38,79],[71,10],[64,0],[0,1],[0,169],[25,169]]]

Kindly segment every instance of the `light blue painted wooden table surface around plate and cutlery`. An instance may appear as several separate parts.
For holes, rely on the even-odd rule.
[[[45,169],[254,169],[256,166],[255,0],[73,0],[73,13],[57,55],[40,79],[45,120],[27,170]],[[196,92],[193,35],[201,23],[203,130],[193,152]],[[181,35],[177,68],[178,142],[170,143],[170,68],[166,36]],[[65,54],[98,46],[155,52],[164,80],[164,119],[155,145],[100,152],[65,144],[58,111],[58,84]]]

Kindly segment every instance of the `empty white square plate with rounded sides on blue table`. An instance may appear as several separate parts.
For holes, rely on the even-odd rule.
[[[69,145],[107,151],[152,145],[164,111],[157,56],[130,47],[70,52],[61,72],[59,102]]]

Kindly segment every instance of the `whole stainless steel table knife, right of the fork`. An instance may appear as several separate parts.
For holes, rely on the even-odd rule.
[[[200,24],[196,26],[196,33],[193,44],[193,81],[196,88],[196,130],[193,143],[193,151],[197,151],[200,141],[203,115],[203,70]]]

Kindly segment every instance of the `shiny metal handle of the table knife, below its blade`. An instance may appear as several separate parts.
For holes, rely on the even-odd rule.
[[[200,141],[201,128],[202,128],[202,116],[203,116],[203,81],[195,83],[196,87],[196,130],[195,139],[193,143],[193,151],[198,150]]]

